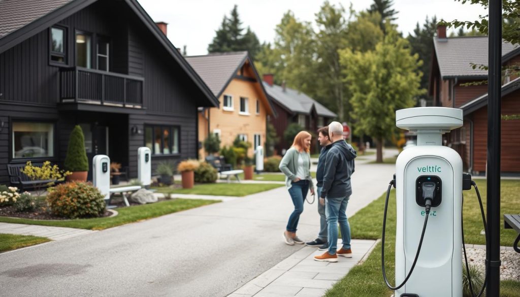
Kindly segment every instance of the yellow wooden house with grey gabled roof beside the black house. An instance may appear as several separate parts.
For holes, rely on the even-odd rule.
[[[268,116],[275,110],[247,51],[186,57],[191,67],[219,100],[218,108],[199,108],[198,139],[209,133],[220,137],[220,146],[231,146],[239,136],[251,143],[248,155],[265,146]],[[202,145],[199,156],[206,156]]]

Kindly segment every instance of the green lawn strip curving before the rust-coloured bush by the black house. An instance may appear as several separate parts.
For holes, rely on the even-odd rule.
[[[0,216],[0,222],[102,230],[119,225],[142,221],[144,219],[149,219],[152,217],[158,217],[165,214],[188,210],[216,202],[220,201],[201,199],[173,199],[151,204],[118,208],[116,210],[119,212],[119,214],[114,217],[67,219],[63,221],[44,221]]]

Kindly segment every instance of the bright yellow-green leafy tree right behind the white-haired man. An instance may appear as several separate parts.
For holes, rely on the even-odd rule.
[[[396,31],[388,32],[375,50],[340,53],[345,83],[352,98],[357,133],[372,136],[377,144],[377,162],[383,161],[383,141],[392,136],[395,111],[413,107],[420,88],[421,61],[412,55],[408,41]]]

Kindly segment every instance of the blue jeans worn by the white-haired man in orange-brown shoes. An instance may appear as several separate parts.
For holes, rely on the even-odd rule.
[[[337,249],[337,223],[340,223],[341,235],[343,237],[343,248],[350,249],[350,226],[347,218],[348,197],[327,197],[325,211],[327,223],[329,223],[329,254],[333,255]]]

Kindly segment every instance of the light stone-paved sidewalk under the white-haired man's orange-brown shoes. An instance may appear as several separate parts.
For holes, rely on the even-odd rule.
[[[324,251],[304,247],[228,297],[321,297],[336,281],[343,278],[350,268],[370,253],[375,242],[353,239],[352,259],[339,257],[336,263],[315,261],[314,256]],[[338,242],[339,247],[340,244],[341,240]]]

